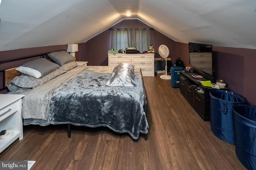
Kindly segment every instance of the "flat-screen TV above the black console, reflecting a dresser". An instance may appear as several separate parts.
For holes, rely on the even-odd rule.
[[[190,65],[212,76],[212,45],[188,43]]]

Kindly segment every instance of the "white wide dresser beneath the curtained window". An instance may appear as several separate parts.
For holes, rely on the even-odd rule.
[[[154,76],[154,58],[154,54],[108,54],[108,66],[129,63],[141,68],[143,76]]]

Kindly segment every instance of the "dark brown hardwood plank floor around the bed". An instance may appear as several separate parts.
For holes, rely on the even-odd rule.
[[[36,160],[32,170],[245,170],[235,145],[218,139],[170,80],[144,77],[149,104],[148,141],[108,128],[24,126],[24,138],[0,160]]]

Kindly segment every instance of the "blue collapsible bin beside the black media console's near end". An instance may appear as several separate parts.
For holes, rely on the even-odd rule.
[[[246,102],[246,98],[230,91],[216,89],[210,92],[210,125],[216,137],[235,144],[233,105]]]

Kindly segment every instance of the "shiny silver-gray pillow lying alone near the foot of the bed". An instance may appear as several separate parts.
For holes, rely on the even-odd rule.
[[[106,86],[136,86],[134,82],[134,65],[128,63],[117,65],[106,83]]]

